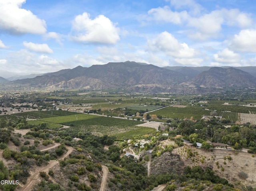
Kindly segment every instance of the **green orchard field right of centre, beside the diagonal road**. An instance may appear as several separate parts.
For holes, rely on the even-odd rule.
[[[190,118],[195,120],[202,118],[203,115],[210,115],[210,110],[204,110],[202,107],[187,106],[187,107],[165,107],[149,114],[161,115],[163,118]]]

